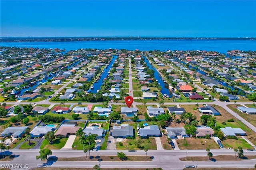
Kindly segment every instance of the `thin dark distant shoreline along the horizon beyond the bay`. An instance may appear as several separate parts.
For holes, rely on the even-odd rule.
[[[197,37],[2,37],[0,42],[79,42],[114,40],[256,40],[256,38],[197,38]]]

